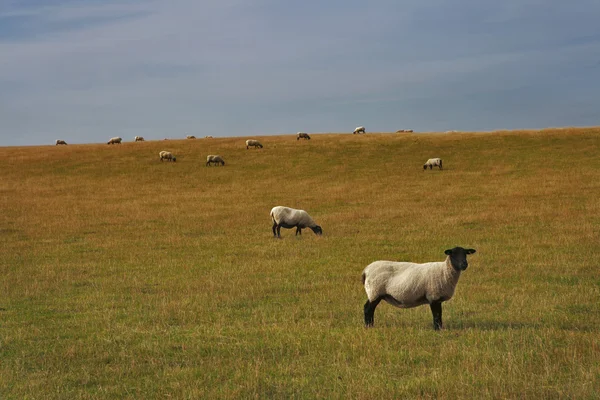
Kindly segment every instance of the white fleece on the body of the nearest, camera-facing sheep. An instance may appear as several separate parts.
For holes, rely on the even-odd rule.
[[[450,257],[445,261],[416,264],[411,262],[375,261],[363,271],[365,291],[369,301],[378,297],[400,308],[449,300],[460,278]]]

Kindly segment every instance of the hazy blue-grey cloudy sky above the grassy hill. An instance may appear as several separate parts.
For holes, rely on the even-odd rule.
[[[0,146],[600,125],[598,0],[0,0]]]

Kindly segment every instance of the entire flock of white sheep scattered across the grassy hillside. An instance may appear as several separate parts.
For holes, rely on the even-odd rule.
[[[400,131],[399,131],[400,132]],[[412,132],[412,130],[402,130]],[[366,133],[364,126],[357,127],[353,134]],[[209,138],[212,136],[206,136]],[[188,135],[187,139],[195,139]],[[310,140],[306,132],[298,132],[296,140]],[[144,138],[136,136],[136,142],[143,142]],[[111,138],[107,144],[121,144],[120,137]],[[66,145],[64,140],[57,140],[56,145]],[[263,148],[263,145],[255,139],[246,140],[246,149],[250,147]],[[177,161],[176,157],[169,151],[159,153],[160,161]],[[208,155],[206,165],[225,165],[225,160],[220,155]],[[442,169],[441,158],[430,158],[423,164],[423,170],[438,167]],[[281,238],[281,228],[296,228],[296,236],[302,235],[302,229],[309,228],[316,235],[322,235],[323,229],[304,210],[290,207],[277,206],[271,209],[271,220],[273,222],[273,236]],[[363,307],[364,321],[366,327],[374,324],[375,308],[381,300],[399,307],[412,308],[429,304],[433,316],[433,328],[443,328],[442,303],[450,300],[458,284],[460,274],[468,267],[467,256],[475,253],[474,249],[455,247],[444,252],[446,259],[438,262],[417,264],[412,262],[375,261],[369,264],[362,273],[362,283],[367,294],[367,302]]]

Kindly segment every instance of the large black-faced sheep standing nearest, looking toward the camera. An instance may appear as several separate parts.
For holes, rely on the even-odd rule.
[[[433,329],[442,329],[442,302],[454,295],[460,273],[469,266],[467,255],[473,253],[474,249],[455,247],[444,251],[447,257],[441,262],[375,261],[369,264],[362,273],[368,298],[364,305],[365,326],[373,326],[375,308],[385,300],[399,308],[429,304]]]

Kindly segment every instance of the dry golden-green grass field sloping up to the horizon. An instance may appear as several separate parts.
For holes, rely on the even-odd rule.
[[[598,398],[600,128],[245,139],[0,148],[1,399]],[[445,330],[364,328],[367,264],[454,246]]]

